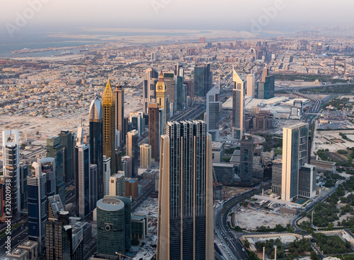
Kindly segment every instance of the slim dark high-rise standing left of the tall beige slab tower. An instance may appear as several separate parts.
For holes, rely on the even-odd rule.
[[[253,174],[253,144],[254,138],[250,134],[244,134],[240,142],[240,174],[241,182],[252,185]]]

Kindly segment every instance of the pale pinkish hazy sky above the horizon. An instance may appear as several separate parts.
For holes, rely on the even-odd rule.
[[[64,32],[82,26],[250,31],[254,21],[261,23],[262,30],[354,25],[352,0],[0,1],[2,33],[9,28],[16,33]]]

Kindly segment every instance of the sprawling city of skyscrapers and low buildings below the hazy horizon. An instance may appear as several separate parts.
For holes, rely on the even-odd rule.
[[[220,38],[0,57],[0,259],[351,259],[353,38]]]

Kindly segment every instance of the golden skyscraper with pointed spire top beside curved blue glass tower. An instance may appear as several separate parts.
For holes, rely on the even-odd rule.
[[[103,155],[110,157],[110,175],[117,172],[115,159],[115,101],[108,79],[102,95],[103,108]]]

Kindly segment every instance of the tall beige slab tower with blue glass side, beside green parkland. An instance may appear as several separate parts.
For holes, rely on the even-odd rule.
[[[307,163],[309,125],[297,123],[282,129],[282,200],[298,196],[299,169]]]

